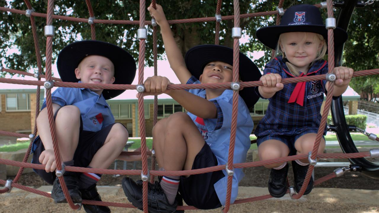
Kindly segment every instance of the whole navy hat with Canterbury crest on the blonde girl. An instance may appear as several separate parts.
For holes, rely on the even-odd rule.
[[[313,5],[291,6],[282,16],[280,25],[260,28],[256,35],[260,42],[276,50],[280,34],[290,32],[318,33],[324,37],[326,44],[328,41],[328,31],[321,18],[321,13]],[[334,29],[335,47],[342,45],[347,39],[348,34],[345,30],[339,27]]]

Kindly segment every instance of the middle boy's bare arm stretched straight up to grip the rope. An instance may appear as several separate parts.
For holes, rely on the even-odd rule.
[[[175,75],[179,78],[180,83],[185,84],[192,75],[188,71],[182,53],[180,52],[175,39],[172,36],[170,25],[166,20],[166,16],[164,16],[162,7],[158,4],[156,5],[157,9],[154,9],[151,4],[147,9],[157,21],[158,25],[161,27],[164,50],[166,50],[171,69],[174,70]]]

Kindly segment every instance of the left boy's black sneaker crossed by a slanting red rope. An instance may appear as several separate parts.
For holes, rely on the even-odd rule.
[[[79,191],[79,179],[75,172],[66,171],[63,174],[64,182],[69,190],[72,202],[81,203],[81,193]],[[51,191],[51,197],[55,203],[67,203],[66,197],[64,197],[61,184],[58,177],[55,178],[53,183],[53,190]]]

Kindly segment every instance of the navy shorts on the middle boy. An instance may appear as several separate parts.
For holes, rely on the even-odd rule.
[[[207,143],[197,153],[193,161],[192,169],[202,169],[217,166],[217,158],[213,154]],[[199,209],[213,209],[221,207],[220,200],[213,186],[220,179],[225,177],[222,171],[207,172],[204,174],[181,176],[179,183],[179,193],[182,195],[187,205],[193,205]]]

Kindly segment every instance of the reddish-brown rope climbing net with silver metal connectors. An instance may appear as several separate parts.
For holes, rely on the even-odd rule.
[[[215,27],[215,44],[219,44],[219,31],[220,31],[220,22],[221,20],[234,20],[234,28],[232,32],[236,31],[237,33],[232,33],[233,38],[233,82],[238,82],[238,69],[239,69],[239,39],[241,38],[241,28],[240,28],[240,18],[247,18],[247,17],[257,17],[257,16],[267,16],[267,15],[276,15],[276,24],[279,25],[280,23],[280,17],[283,15],[283,1],[280,0],[278,4],[278,9],[276,11],[267,11],[267,12],[260,12],[260,13],[250,13],[250,14],[240,14],[240,6],[238,0],[233,0],[234,4],[234,15],[233,16],[222,16],[221,17],[221,0],[217,1],[217,8],[216,8],[216,16],[215,17],[203,17],[203,18],[194,18],[194,19],[182,19],[182,20],[169,20],[168,22],[170,24],[173,23],[190,23],[190,22],[211,22],[216,21],[216,27]],[[50,131],[53,139],[53,148],[54,148],[54,154],[56,159],[56,175],[58,176],[64,195],[66,197],[66,200],[69,204],[69,206],[72,209],[79,209],[81,206],[78,204],[74,204],[72,202],[71,197],[69,196],[67,187],[65,182],[63,181],[63,172],[64,171],[73,171],[73,172],[94,172],[94,173],[100,173],[100,174],[121,174],[121,175],[141,175],[141,179],[143,180],[143,210],[145,213],[147,213],[147,181],[150,176],[150,181],[154,181],[155,175],[193,175],[193,174],[202,174],[206,172],[215,172],[220,171],[223,169],[226,169],[228,174],[228,180],[227,180],[227,195],[226,195],[226,205],[223,208],[224,212],[228,212],[230,208],[230,197],[231,197],[231,191],[232,191],[232,177],[233,177],[233,169],[234,168],[249,168],[249,167],[255,167],[255,166],[264,166],[269,165],[273,163],[283,163],[285,161],[291,161],[291,160],[301,160],[301,159],[309,159],[310,166],[307,172],[307,175],[304,180],[304,184],[301,187],[301,190],[298,194],[294,193],[294,190],[288,190],[291,197],[293,199],[299,199],[305,192],[305,189],[307,188],[307,185],[309,183],[309,180],[311,178],[314,166],[316,164],[316,158],[363,158],[363,157],[376,157],[376,155],[379,155],[379,150],[370,150],[370,152],[358,152],[358,153],[317,153],[318,147],[323,135],[324,127],[326,125],[326,118],[327,114],[330,109],[330,104],[332,102],[332,94],[333,94],[333,86],[335,79],[335,76],[333,78],[332,70],[334,69],[334,33],[333,29],[335,28],[335,19],[333,14],[333,2],[332,0],[327,0],[327,2],[321,2],[320,4],[316,4],[316,7],[319,8],[327,8],[327,14],[328,19],[334,19],[334,25],[328,25],[328,61],[329,61],[329,71],[328,74],[325,75],[316,75],[316,76],[307,76],[307,77],[296,77],[296,78],[287,78],[283,79],[283,83],[297,83],[297,82],[304,82],[304,81],[314,81],[314,80],[329,80],[329,88],[328,93],[326,97],[325,107],[322,113],[321,118],[321,124],[315,139],[315,144],[313,147],[312,152],[309,153],[309,155],[293,155],[288,157],[282,157],[277,158],[273,160],[265,160],[265,161],[255,161],[255,162],[248,162],[248,163],[235,163],[233,164],[233,153],[234,153],[234,146],[235,146],[235,136],[236,136],[236,120],[237,120],[237,109],[238,109],[238,89],[232,89],[233,91],[233,111],[232,111],[232,125],[231,125],[231,133],[230,133],[230,146],[229,146],[229,156],[228,156],[228,162],[227,165],[219,165],[219,166],[213,166],[209,168],[204,169],[195,169],[195,170],[186,170],[186,171],[155,171],[155,157],[153,152],[146,151],[146,152],[122,152],[122,155],[136,155],[141,154],[142,156],[142,170],[112,170],[112,169],[94,169],[94,168],[80,168],[80,167],[74,167],[74,166],[64,166],[61,162],[60,153],[58,149],[58,142],[56,138],[55,133],[55,122],[53,119],[53,110],[52,110],[52,97],[51,97],[51,89],[54,86],[60,86],[60,87],[71,87],[71,88],[96,88],[96,89],[136,89],[139,92],[138,96],[138,113],[139,113],[139,127],[140,127],[140,136],[141,136],[141,150],[146,150],[146,132],[145,132],[145,119],[144,119],[144,99],[142,92],[144,91],[143,87],[143,75],[144,75],[144,60],[145,60],[145,41],[147,39],[147,30],[144,27],[145,25],[152,25],[153,27],[153,60],[154,60],[154,75],[157,75],[157,24],[155,23],[155,20],[152,19],[151,21],[146,21],[145,18],[145,9],[146,9],[146,2],[145,0],[140,0],[140,7],[139,7],[139,21],[132,21],[132,20],[99,20],[95,19],[95,15],[91,6],[90,0],[86,0],[86,4],[88,6],[89,11],[89,18],[73,18],[73,17],[66,17],[66,16],[56,16],[53,14],[54,11],[54,0],[49,0],[47,5],[47,14],[43,13],[36,13],[34,12],[34,9],[31,6],[31,3],[29,0],[24,0],[25,4],[27,5],[26,11],[21,11],[17,9],[10,9],[5,7],[0,7],[1,11],[8,11],[11,13],[18,13],[18,14],[24,14],[27,17],[30,17],[31,22],[31,28],[33,31],[33,38],[34,38],[34,46],[36,50],[37,55],[37,66],[38,66],[38,73],[37,74],[31,74],[28,72],[23,72],[19,70],[13,70],[13,69],[6,69],[2,66],[0,66],[0,71],[9,72],[13,74],[22,74],[22,75],[29,75],[36,77],[38,80],[16,80],[16,79],[7,79],[7,78],[0,78],[1,83],[13,83],[13,84],[22,84],[22,85],[36,85],[37,87],[37,98],[36,98],[36,117],[38,117],[39,114],[39,96],[40,96],[40,88],[39,86],[44,86],[46,88],[46,103],[47,103],[47,111],[49,116],[49,124],[50,124]],[[155,8],[155,0],[152,1],[153,7]],[[38,36],[37,36],[37,30],[36,30],[36,23],[34,20],[34,16],[38,17],[45,17],[46,18],[46,26],[45,26],[45,36],[47,37],[46,41],[46,75],[42,75],[42,62],[41,62],[41,54],[39,50],[38,45]],[[62,20],[70,20],[75,22],[88,22],[91,26],[91,38],[96,39],[96,31],[95,31],[95,24],[96,23],[110,23],[110,24],[139,24],[139,30],[138,30],[138,39],[139,39],[139,58],[138,58],[138,85],[114,85],[114,84],[89,84],[89,83],[70,83],[70,82],[62,82],[59,78],[52,77],[52,42],[53,42],[53,36],[54,36],[54,27],[52,26],[53,19],[62,19]],[[328,22],[329,23],[329,22]],[[272,56],[275,55],[275,52],[273,51]],[[356,71],[353,74],[353,77],[359,77],[364,75],[376,75],[379,74],[379,69],[371,69],[371,70],[361,70]],[[41,78],[45,78],[45,81],[41,81]],[[229,83],[207,83],[207,84],[195,84],[195,85],[169,85],[168,89],[207,89],[207,88],[230,88],[231,85],[233,85],[233,82]],[[252,87],[252,86],[262,86],[261,81],[249,81],[249,82],[241,82],[241,87]],[[157,123],[157,113],[158,113],[158,99],[157,96],[154,98],[154,116],[153,116],[153,125]],[[34,139],[34,136],[37,133],[37,125],[34,125],[34,131],[31,135],[24,135],[20,133],[10,133],[0,130],[1,135],[8,135],[8,136],[16,136],[16,137],[29,137],[31,142]],[[379,138],[376,138],[377,141],[379,141]],[[32,164],[32,163],[26,163],[27,159],[29,157],[29,153],[31,151],[31,144],[25,154],[25,157],[23,158],[22,162],[19,161],[12,161],[12,160],[6,160],[6,159],[0,159],[0,163],[7,164],[11,166],[19,166],[20,169],[14,178],[14,180],[0,180],[0,184],[5,185],[5,188],[0,190],[1,193],[10,192],[12,187],[16,187],[25,191],[29,191],[32,193],[40,194],[42,196],[50,197],[49,193],[36,190],[27,186],[23,186],[20,184],[17,184],[17,181],[19,180],[23,169],[24,168],[33,168],[33,169],[44,169],[44,166],[41,164]],[[149,170],[147,166],[147,155],[152,156],[152,168]],[[315,180],[314,184],[318,185],[326,180],[329,180],[334,177],[338,177],[343,174],[343,172],[347,171],[346,168],[340,168],[336,169],[335,172],[332,172],[329,175],[326,175],[325,177],[322,177],[318,180]],[[288,192],[287,192],[288,193]],[[234,204],[241,204],[245,202],[252,202],[257,200],[263,200],[270,198],[271,195],[264,195],[264,196],[258,196],[258,197],[251,197],[246,199],[239,199],[235,200]],[[105,205],[105,206],[114,206],[114,207],[127,207],[127,208],[135,208],[132,204],[122,204],[122,203],[114,203],[114,202],[100,202],[100,201],[93,201],[93,200],[83,200],[83,204],[90,204],[90,205]],[[178,210],[191,210],[196,209],[193,206],[178,206]]]

